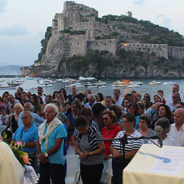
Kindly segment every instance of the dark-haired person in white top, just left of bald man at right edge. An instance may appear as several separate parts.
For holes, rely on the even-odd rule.
[[[176,140],[172,135],[169,135],[170,130],[170,122],[167,118],[160,118],[156,124],[155,127],[160,126],[162,129],[161,138],[162,138],[162,144],[167,146],[176,146]],[[153,140],[154,142],[160,144],[158,140]],[[152,143],[152,141],[149,141],[148,143]]]

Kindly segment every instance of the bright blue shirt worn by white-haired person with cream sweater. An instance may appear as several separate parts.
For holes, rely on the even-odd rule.
[[[48,129],[48,124],[46,123],[44,135],[46,134],[47,129]],[[47,150],[45,150],[45,145],[44,145],[45,144],[45,140],[42,141],[42,143],[41,143],[41,151],[42,151],[42,153],[48,152],[56,144],[56,139],[65,138],[65,137],[67,137],[67,132],[65,130],[64,125],[60,124],[49,135]],[[64,141],[62,141],[60,149],[56,153],[54,153],[54,154],[49,156],[49,163],[64,165],[65,157],[64,157],[64,153],[63,153],[63,146],[64,146]]]

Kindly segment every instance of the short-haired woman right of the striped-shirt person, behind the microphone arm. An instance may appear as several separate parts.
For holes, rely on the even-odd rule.
[[[151,118],[149,115],[142,114],[139,117],[139,133],[145,137],[155,135],[155,131],[151,129]],[[144,143],[148,143],[148,140],[144,139]]]

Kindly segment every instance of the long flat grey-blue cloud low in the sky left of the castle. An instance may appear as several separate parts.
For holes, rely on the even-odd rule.
[[[22,25],[0,28],[0,36],[21,36],[28,33],[27,29]]]

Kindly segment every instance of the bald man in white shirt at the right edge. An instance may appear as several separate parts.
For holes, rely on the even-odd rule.
[[[169,135],[173,136],[176,146],[184,146],[184,109],[174,112],[174,124],[171,125]]]

